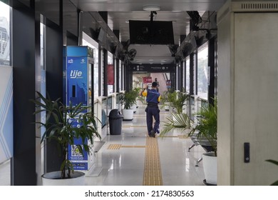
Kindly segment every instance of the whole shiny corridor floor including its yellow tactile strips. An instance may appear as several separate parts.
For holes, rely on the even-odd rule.
[[[145,106],[138,107],[132,121],[123,121],[122,134],[110,135],[96,153],[96,166],[86,174],[86,185],[98,186],[202,186],[205,179],[202,161],[205,152],[192,145],[179,131],[165,137],[148,137]],[[169,111],[160,109],[160,131]],[[109,128],[108,128],[109,132]]]

